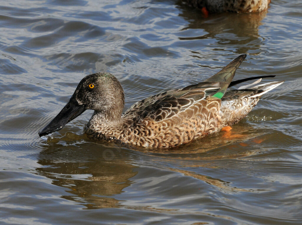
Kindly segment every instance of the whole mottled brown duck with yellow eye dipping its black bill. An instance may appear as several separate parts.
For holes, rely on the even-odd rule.
[[[88,75],[80,81],[66,106],[40,130],[39,135],[62,129],[86,109],[94,110],[84,127],[85,133],[93,139],[169,148],[218,132],[239,122],[264,93],[284,82],[255,86],[261,78],[274,76],[232,81],[245,57],[237,57],[204,82],[150,96],[123,114],[124,91],[117,78],[111,73]],[[237,90],[228,89],[253,79],[259,80]]]

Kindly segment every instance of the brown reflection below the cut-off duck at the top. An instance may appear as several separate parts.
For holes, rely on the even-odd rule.
[[[182,8],[179,16],[185,18],[188,21],[188,25],[182,29],[187,31],[194,29],[196,32],[191,31],[193,36],[182,36],[182,34],[188,34],[180,32],[179,40],[200,40],[204,43],[210,40],[215,40],[215,44],[220,47],[213,46],[211,44],[212,51],[225,51],[232,49],[231,52],[236,54],[247,53],[259,54],[261,52],[261,45],[263,44],[263,38],[259,35],[259,26],[262,25],[261,21],[265,18],[267,12],[260,13],[220,13],[212,14],[209,18],[202,19],[202,16],[198,11],[192,11],[191,8],[185,5],[179,4]],[[203,32],[201,32],[203,30]],[[234,50],[234,47],[235,50]],[[203,48],[204,50],[204,48]],[[208,51],[202,57],[207,57]]]

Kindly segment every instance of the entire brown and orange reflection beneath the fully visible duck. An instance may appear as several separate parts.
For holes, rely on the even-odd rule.
[[[258,152],[255,145],[262,140],[259,135],[263,133],[254,131],[252,126],[241,123],[231,132],[220,132],[179,148],[135,148],[135,151],[67,132],[63,137],[53,137],[45,143],[48,148],[38,155],[37,162],[41,167],[36,170],[50,178],[52,184],[69,188],[69,194],[61,197],[87,209],[130,207],[117,196],[133,184],[136,180],[133,177],[146,165],[175,175],[190,176],[224,191],[260,191],[235,187],[231,182],[205,172],[205,168],[220,168],[217,160],[242,158]],[[153,176],[159,178],[160,173]]]

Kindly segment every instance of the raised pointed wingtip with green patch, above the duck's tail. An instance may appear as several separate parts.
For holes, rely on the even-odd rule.
[[[227,66],[225,66],[222,70],[216,73],[214,76],[208,78],[204,82],[210,82],[214,86],[213,83],[219,83],[220,90],[216,93],[212,94],[212,97],[221,99],[226,92],[226,89],[230,85],[233,77],[235,75],[236,70],[246,58],[246,54],[238,56],[232,62],[230,62]]]

